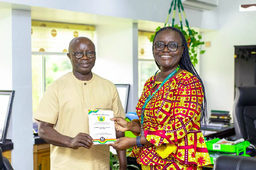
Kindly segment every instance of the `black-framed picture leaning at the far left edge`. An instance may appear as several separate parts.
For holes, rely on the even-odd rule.
[[[12,102],[15,91],[0,90],[0,143],[4,144],[12,112]]]

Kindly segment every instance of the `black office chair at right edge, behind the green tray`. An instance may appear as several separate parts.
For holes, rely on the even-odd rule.
[[[244,138],[256,146],[256,86],[236,87],[233,119],[236,139]]]

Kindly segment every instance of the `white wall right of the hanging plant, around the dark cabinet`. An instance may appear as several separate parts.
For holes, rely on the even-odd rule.
[[[240,4],[253,0],[219,0],[219,30],[203,32],[204,41],[211,47],[201,55],[201,78],[207,95],[208,116],[210,110],[227,110],[232,113],[234,100],[234,45],[256,44],[256,11],[239,12]]]

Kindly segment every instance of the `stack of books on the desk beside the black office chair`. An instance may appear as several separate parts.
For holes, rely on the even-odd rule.
[[[229,111],[211,111],[211,116],[209,118],[209,123],[222,123],[225,125],[230,125],[230,114]]]

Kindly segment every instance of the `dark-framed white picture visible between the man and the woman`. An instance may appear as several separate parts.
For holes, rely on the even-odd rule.
[[[125,113],[127,112],[127,103],[128,103],[128,95],[129,95],[129,87],[130,85],[128,84],[115,84],[116,89],[118,91],[122,106],[125,110]]]

